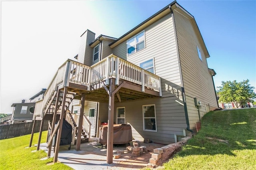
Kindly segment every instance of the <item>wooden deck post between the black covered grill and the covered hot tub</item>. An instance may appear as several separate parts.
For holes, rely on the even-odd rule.
[[[82,135],[82,127],[83,127],[83,119],[84,119],[84,102],[85,102],[85,93],[82,94],[82,99],[81,99],[78,132],[76,137],[76,151],[80,150],[80,145],[81,145],[81,135]]]

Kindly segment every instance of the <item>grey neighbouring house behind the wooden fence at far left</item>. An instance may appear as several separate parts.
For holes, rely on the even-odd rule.
[[[25,100],[22,100],[21,103],[13,103],[11,106],[13,107],[11,123],[32,121],[34,113],[30,112],[30,108],[35,107],[35,102],[43,98],[45,91],[46,89],[42,89],[31,97],[30,103],[25,103]]]

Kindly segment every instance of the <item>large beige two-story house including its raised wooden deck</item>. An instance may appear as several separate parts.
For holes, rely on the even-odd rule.
[[[71,107],[80,116],[79,125],[80,113],[90,118],[92,136],[97,136],[100,123],[108,122],[108,163],[113,124],[130,124],[135,140],[170,144],[218,108],[212,79],[216,73],[208,68],[208,57],[194,17],[176,1],[120,38],[95,38],[86,30],[78,61],[67,60],[59,67],[40,105],[42,112],[36,114],[59,114],[61,127]],[[54,161],[57,156],[55,151]]]

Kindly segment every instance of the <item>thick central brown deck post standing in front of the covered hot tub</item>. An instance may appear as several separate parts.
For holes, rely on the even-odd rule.
[[[109,79],[107,163],[113,163],[115,79]]]

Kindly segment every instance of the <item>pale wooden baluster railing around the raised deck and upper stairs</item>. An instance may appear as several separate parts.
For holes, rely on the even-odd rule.
[[[71,82],[90,87],[91,84],[104,80],[108,84],[109,78],[116,78],[117,85],[119,79],[142,85],[142,92],[144,92],[144,87],[149,87],[155,91],[159,91],[161,96],[160,77],[113,54],[91,67],[68,59],[58,68],[58,71],[44,93],[43,110],[60,84],[68,86],[68,83]]]

